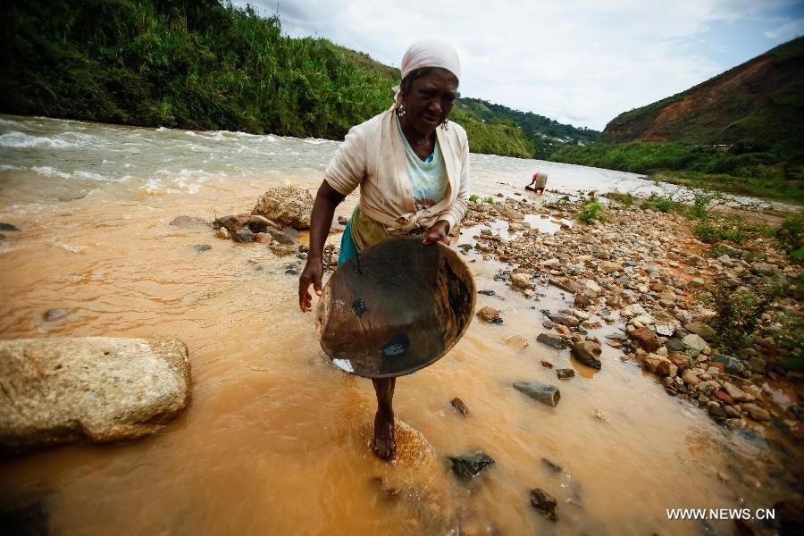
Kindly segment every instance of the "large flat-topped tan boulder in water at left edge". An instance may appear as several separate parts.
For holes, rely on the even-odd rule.
[[[180,340],[0,340],[0,448],[133,440],[187,407]]]

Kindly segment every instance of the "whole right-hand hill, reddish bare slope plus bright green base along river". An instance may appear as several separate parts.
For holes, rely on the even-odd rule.
[[[621,113],[550,160],[804,203],[804,38]]]

